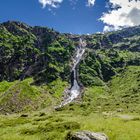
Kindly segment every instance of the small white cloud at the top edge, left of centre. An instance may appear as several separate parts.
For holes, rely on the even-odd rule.
[[[63,0],[39,0],[39,2],[42,4],[43,8],[46,6],[57,8],[58,5],[63,2]]]

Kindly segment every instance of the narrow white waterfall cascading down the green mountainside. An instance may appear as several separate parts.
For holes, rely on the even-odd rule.
[[[74,99],[78,98],[81,93],[81,87],[78,83],[77,78],[77,66],[82,59],[85,52],[86,42],[81,38],[79,39],[79,45],[76,48],[76,56],[73,58],[72,71],[71,71],[71,88],[65,91],[64,100],[61,102],[59,107],[63,107],[71,103]]]

